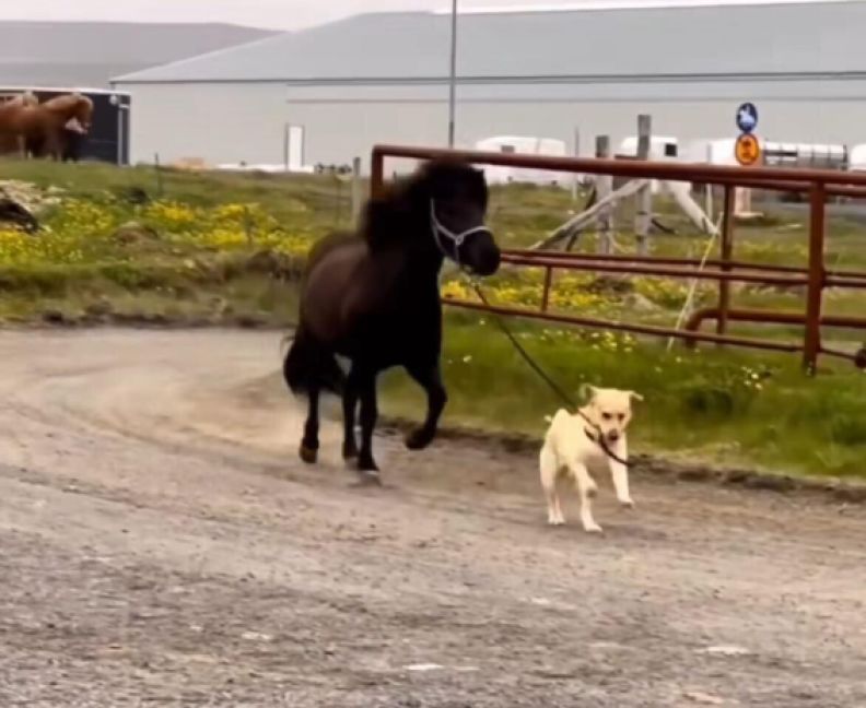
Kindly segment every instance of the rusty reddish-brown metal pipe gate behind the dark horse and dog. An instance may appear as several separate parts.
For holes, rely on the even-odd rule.
[[[578,157],[554,157],[547,155],[522,155],[477,151],[412,148],[407,145],[376,145],[371,161],[371,190],[375,196],[384,185],[385,160],[435,160],[452,157],[476,165],[501,165],[529,169],[548,169],[561,173],[611,175],[635,179],[662,179],[674,181],[718,185],[724,188],[724,213],[721,234],[719,258],[701,262],[688,258],[655,258],[641,256],[600,256],[541,250],[506,250],[503,262],[513,266],[545,269],[545,285],[541,306],[538,309],[523,307],[487,306],[469,300],[444,300],[448,305],[491,311],[504,316],[516,316],[566,324],[597,327],[639,334],[674,337],[688,343],[699,341],[732,344],[782,352],[801,352],[803,364],[809,373],[817,370],[820,354],[854,359],[852,354],[828,349],[821,343],[821,324],[866,330],[866,318],[834,318],[822,315],[823,291],[827,287],[866,290],[866,272],[830,271],[824,263],[827,229],[826,204],[831,196],[866,199],[866,174],[834,172],[829,169],[792,169],[777,167],[728,167],[705,164],[682,164],[641,160],[589,160]],[[733,258],[733,211],[734,190],[737,187],[772,191],[806,193],[809,196],[809,259],[806,268],[793,266],[763,266],[747,263]],[[549,311],[552,274],[558,270],[630,273],[663,278],[703,279],[718,283],[718,305],[699,310],[686,329],[658,327],[578,317]],[[730,307],[730,283],[746,282],[764,285],[788,285],[806,288],[805,312],[780,310],[742,310]],[[716,320],[716,332],[700,332],[704,319]],[[801,342],[734,337],[727,334],[729,321],[754,323],[803,324]]]

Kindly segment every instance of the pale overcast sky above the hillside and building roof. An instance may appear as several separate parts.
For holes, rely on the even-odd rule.
[[[657,0],[629,0],[659,4]],[[742,0],[668,0],[717,4]],[[753,2],[754,0],[746,0]],[[824,0],[816,0],[824,1]],[[460,7],[620,4],[621,0],[459,0]],[[441,10],[450,0],[0,0],[0,20],[116,20],[122,22],[233,22],[292,30],[375,10]]]

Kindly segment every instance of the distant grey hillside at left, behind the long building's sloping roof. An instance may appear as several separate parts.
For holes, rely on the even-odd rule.
[[[108,87],[113,76],[273,34],[226,24],[0,22],[0,87]]]

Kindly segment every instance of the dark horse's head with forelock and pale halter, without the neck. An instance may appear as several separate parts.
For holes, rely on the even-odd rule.
[[[499,270],[500,249],[484,225],[488,186],[482,172],[453,160],[432,161],[416,174],[408,191],[443,256],[478,275]]]

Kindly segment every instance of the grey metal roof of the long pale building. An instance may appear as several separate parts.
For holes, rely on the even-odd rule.
[[[467,14],[463,81],[866,72],[866,1]],[[117,83],[442,81],[449,17],[365,14]]]

